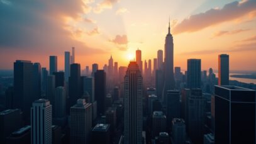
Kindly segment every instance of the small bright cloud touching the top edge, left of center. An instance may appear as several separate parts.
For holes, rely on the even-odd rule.
[[[118,3],[118,0],[103,0],[97,4],[93,11],[94,13],[101,13],[104,9],[111,9],[115,3]]]

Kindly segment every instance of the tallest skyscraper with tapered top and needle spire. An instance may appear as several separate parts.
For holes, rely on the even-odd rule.
[[[165,89],[166,91],[175,88],[174,81],[174,42],[172,34],[170,34],[170,19],[168,34],[165,36],[165,53],[164,53],[164,65],[165,65]]]

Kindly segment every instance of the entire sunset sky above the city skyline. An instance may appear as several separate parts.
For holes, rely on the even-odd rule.
[[[230,70],[256,70],[255,0],[0,0],[0,69],[15,60],[49,65],[75,47],[75,62],[99,64],[110,55],[127,66],[142,50],[142,60],[157,58],[170,29],[174,66],[201,58],[203,70],[218,69],[218,55],[230,55]]]

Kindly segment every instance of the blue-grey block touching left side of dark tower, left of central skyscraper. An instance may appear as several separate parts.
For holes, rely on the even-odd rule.
[[[94,102],[94,77],[84,77],[83,78],[84,82],[84,95],[86,92],[88,92],[90,96],[90,101],[89,102]]]

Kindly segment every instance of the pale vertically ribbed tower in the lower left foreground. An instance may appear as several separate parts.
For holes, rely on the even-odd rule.
[[[52,105],[47,99],[38,99],[32,104],[31,143],[52,143]]]

